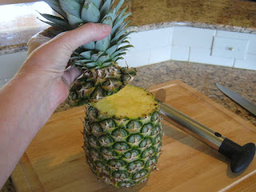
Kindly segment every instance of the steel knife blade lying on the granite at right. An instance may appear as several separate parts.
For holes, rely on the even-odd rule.
[[[256,105],[246,100],[246,98],[240,96],[237,92],[230,90],[229,88],[225,88],[221,84],[216,84],[219,90],[221,90],[226,96],[230,97],[231,100],[234,100],[237,104],[240,104],[243,108],[246,108],[249,112],[256,116]]]

